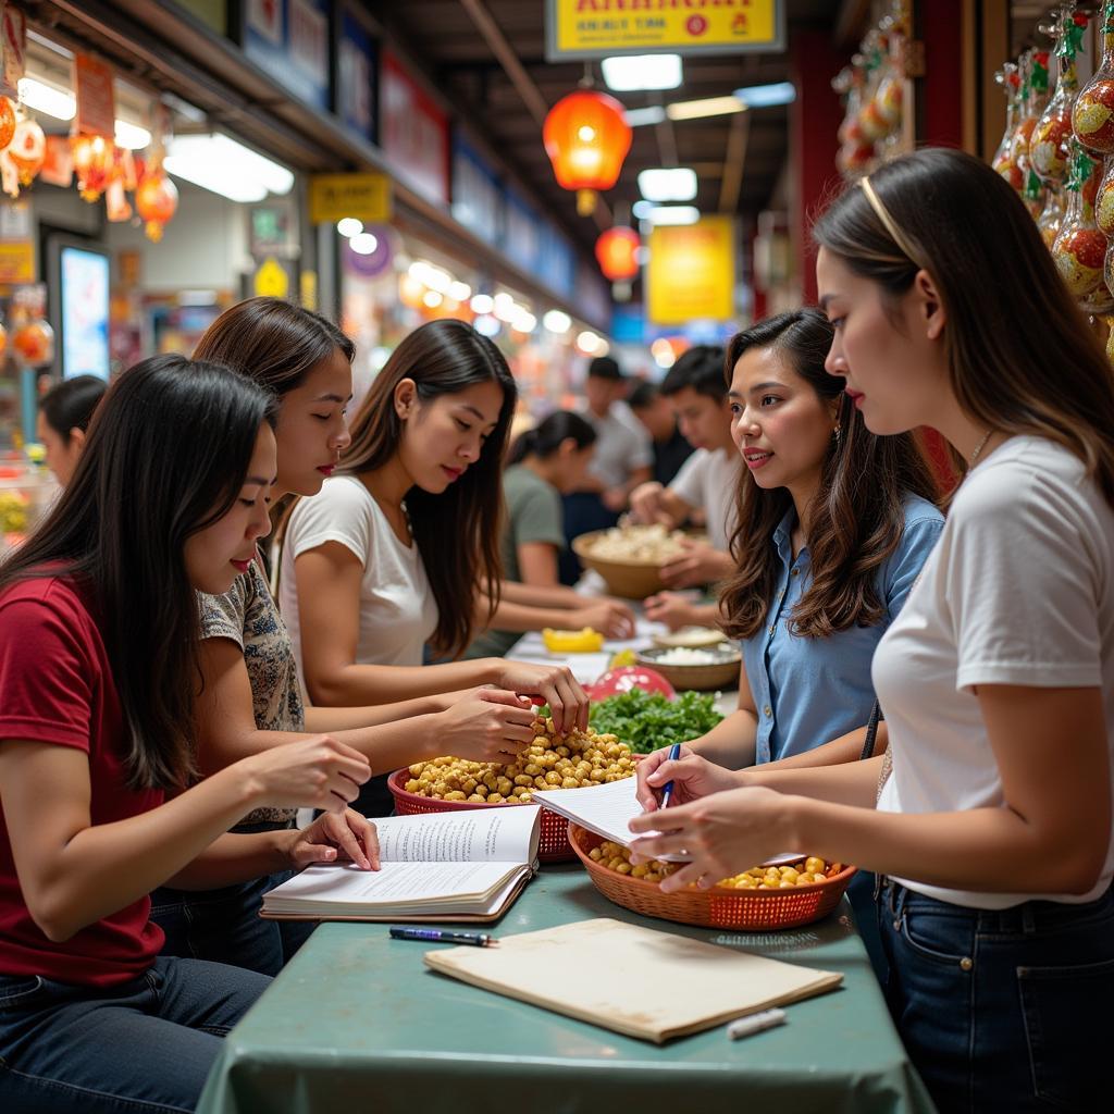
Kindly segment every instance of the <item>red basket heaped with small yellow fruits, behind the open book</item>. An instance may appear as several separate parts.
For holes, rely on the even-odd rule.
[[[551,719],[534,721],[534,742],[508,765],[451,756],[418,762],[388,779],[400,815],[531,804],[536,789],[582,789],[634,775],[631,747],[617,735],[574,730],[558,734]],[[534,804],[534,808],[538,805]],[[541,810],[538,858],[565,862],[576,856],[568,821]]]

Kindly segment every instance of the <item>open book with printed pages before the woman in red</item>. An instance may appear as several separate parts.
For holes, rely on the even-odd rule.
[[[382,870],[307,867],[261,916],[303,920],[497,920],[534,872],[541,810],[475,809],[375,821]]]

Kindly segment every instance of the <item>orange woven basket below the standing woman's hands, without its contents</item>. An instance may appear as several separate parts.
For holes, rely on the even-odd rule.
[[[588,852],[603,842],[595,832],[570,822],[568,841],[587,868],[596,889],[624,909],[641,912],[644,917],[676,920],[682,925],[747,932],[797,928],[827,917],[839,905],[856,870],[854,867],[847,867],[825,882],[794,886],[791,890],[735,890],[715,886],[710,890],[663,893],[657,882],[616,873],[592,859]]]

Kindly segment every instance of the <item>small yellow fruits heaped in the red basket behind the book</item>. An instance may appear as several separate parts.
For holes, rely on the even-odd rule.
[[[451,756],[418,762],[409,793],[471,804],[528,804],[537,789],[583,789],[634,774],[631,747],[594,729],[557,733],[550,719],[534,721],[534,742],[508,765]],[[629,867],[628,867],[629,869]]]

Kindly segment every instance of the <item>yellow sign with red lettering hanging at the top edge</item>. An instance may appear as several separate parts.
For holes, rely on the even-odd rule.
[[[785,48],[781,0],[547,0],[546,58]]]

